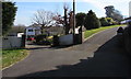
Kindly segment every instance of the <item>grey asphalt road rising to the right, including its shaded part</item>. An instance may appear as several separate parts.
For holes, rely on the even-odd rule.
[[[4,69],[3,77],[128,77],[129,58],[117,44],[117,30],[103,31],[68,48],[34,48],[26,59]]]

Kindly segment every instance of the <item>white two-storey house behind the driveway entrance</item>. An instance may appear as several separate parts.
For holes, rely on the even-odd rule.
[[[27,26],[25,29],[26,38],[31,37],[31,36],[34,37],[35,35],[38,35],[38,34],[41,34],[41,32],[40,32],[40,25],[33,24],[33,25]]]

